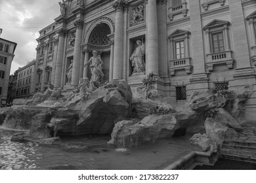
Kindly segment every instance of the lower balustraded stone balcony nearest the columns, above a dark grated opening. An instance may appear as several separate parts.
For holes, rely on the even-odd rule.
[[[192,65],[191,65],[191,58],[182,58],[182,59],[175,59],[169,61],[169,73],[171,76],[175,75],[175,71],[177,70],[185,70],[186,74],[192,73]]]

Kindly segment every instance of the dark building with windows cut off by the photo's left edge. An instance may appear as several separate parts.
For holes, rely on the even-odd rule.
[[[1,35],[0,30],[0,35]],[[17,43],[0,38],[0,105],[7,103],[9,76]]]

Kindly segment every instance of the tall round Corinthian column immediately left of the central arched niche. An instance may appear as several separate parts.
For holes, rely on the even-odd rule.
[[[75,25],[76,31],[75,31],[74,61],[72,65],[71,85],[77,86],[79,82],[83,20],[76,20],[74,22],[74,25]]]

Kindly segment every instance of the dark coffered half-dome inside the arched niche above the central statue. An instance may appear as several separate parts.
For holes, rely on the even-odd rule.
[[[89,38],[89,43],[94,45],[108,45],[110,42],[108,35],[110,33],[110,27],[107,24],[102,23],[96,25]]]

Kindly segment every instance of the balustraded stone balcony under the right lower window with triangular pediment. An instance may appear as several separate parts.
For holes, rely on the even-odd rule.
[[[207,54],[206,67],[209,72],[213,71],[214,65],[226,63],[228,69],[233,69],[234,59],[232,59],[232,51],[224,51],[215,54]]]

